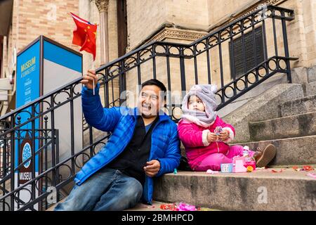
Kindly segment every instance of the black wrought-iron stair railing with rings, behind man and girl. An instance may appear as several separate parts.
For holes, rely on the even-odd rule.
[[[180,117],[181,91],[192,84],[217,84],[218,110],[276,74],[285,74],[291,82],[289,46],[286,22],[294,19],[294,11],[268,6],[245,15],[192,44],[154,41],[98,68],[100,98],[107,108],[127,104],[120,94],[140,85],[145,79],[156,78],[169,91],[166,113],[177,121]],[[264,60],[257,61],[255,30],[261,27]],[[252,32],[253,51],[246,52],[245,35]],[[248,36],[249,37],[249,36]],[[251,37],[251,36],[250,36]],[[241,39],[244,73],[236,76],[234,41]],[[239,41],[240,42],[240,41]],[[248,48],[249,49],[249,48]],[[238,53],[238,52],[237,52]],[[254,57],[254,66],[247,70],[246,61]],[[45,210],[51,204],[50,187],[55,188],[56,201],[60,191],[73,180],[76,172],[103,148],[110,134],[100,133],[83,120],[82,148],[75,147],[74,101],[81,96],[81,78],[65,84],[49,94],[27,103],[0,117],[1,160],[0,207],[2,210]],[[177,92],[178,91],[178,92]],[[177,94],[174,94],[177,92]],[[180,93],[180,94],[179,94]],[[137,93],[136,93],[137,94]],[[129,104],[127,104],[129,105]],[[131,104],[132,105],[132,104]],[[56,110],[69,108],[69,149],[60,152]],[[60,119],[59,119],[60,120]],[[62,120],[62,118],[61,118]],[[37,129],[37,124],[40,124]],[[33,146],[29,156],[20,159],[20,141],[29,139]],[[65,140],[64,140],[65,141]],[[37,146],[37,147],[36,147]],[[19,153],[18,155],[16,153]],[[32,162],[31,165],[29,162]],[[21,182],[16,177],[23,167],[32,167],[30,179]],[[38,167],[38,168],[37,168]],[[27,193],[29,193],[27,195]],[[21,197],[23,195],[23,197]]]

